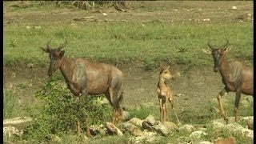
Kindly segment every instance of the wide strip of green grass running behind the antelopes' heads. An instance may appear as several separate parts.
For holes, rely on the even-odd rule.
[[[212,58],[202,52],[210,39],[222,45],[230,40],[232,50],[227,57],[252,62],[253,27],[251,23],[178,24],[163,22],[78,23],[77,26],[42,25],[41,29],[26,29],[26,24],[4,29],[4,64],[19,62],[48,65],[48,55],[39,49],[53,38],[51,46],[68,40],[66,56],[86,57],[98,62],[139,62],[153,69],[162,62],[187,66],[211,66]]]

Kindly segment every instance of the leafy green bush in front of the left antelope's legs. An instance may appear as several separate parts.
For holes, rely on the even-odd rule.
[[[98,97],[76,98],[57,81],[49,81],[35,94],[36,98],[42,100],[40,113],[34,115],[34,122],[26,127],[25,138],[47,140],[51,134],[74,133],[79,120],[81,128],[85,131],[86,114],[90,116],[90,124],[100,124],[110,120],[112,108],[110,104],[101,104]],[[80,100],[79,100],[80,99]]]

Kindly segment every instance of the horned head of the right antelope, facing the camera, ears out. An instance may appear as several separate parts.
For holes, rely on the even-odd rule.
[[[212,54],[214,58],[214,72],[218,72],[219,67],[222,65],[222,58],[226,52],[230,51],[231,48],[229,48],[229,41],[226,39],[226,44],[220,47],[214,47],[210,45],[210,42],[208,42],[208,46],[211,50],[202,50],[206,54]]]

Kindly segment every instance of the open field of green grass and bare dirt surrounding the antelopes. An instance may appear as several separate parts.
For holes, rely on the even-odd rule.
[[[253,2],[250,1],[130,2],[126,12],[114,10],[113,7],[92,10],[65,6],[56,8],[52,3],[20,8],[13,6],[14,3],[4,2],[3,56],[7,79],[5,118],[38,114],[37,107],[41,102],[34,98],[34,93],[45,83],[49,65],[48,55],[39,47],[46,46],[50,38],[50,46],[53,47],[67,40],[65,55],[68,57],[85,57],[94,62],[106,62],[122,68],[127,77],[131,78],[126,80],[126,89],[130,90],[126,90],[126,102],[134,104],[127,106],[132,117],[146,118],[149,114],[159,117],[158,106],[153,104],[150,107],[140,106],[138,109],[138,105],[142,102],[157,102],[155,96],[151,97],[156,88],[151,84],[157,81],[160,66],[170,64],[172,67],[182,67],[184,73],[189,71],[191,74],[182,75],[182,80],[172,84],[175,84],[174,90],[183,90],[180,93],[186,93],[191,102],[186,103],[186,100],[180,98],[178,115],[183,123],[195,125],[220,118],[216,112],[209,111],[211,107],[218,106],[218,103],[206,105],[222,89],[222,85],[218,86],[218,83],[222,84],[221,79],[212,72],[211,56],[202,52],[202,49],[208,49],[207,42],[222,46],[227,38],[232,49],[226,58],[241,59],[249,65],[253,62],[253,17],[247,18],[248,13],[253,12]],[[232,6],[238,6],[238,9],[233,10]],[[107,16],[102,15],[103,12]],[[86,17],[93,18],[74,21],[74,18]],[[194,77],[192,74],[195,74]],[[56,77],[63,80],[60,73]],[[139,81],[142,83],[136,83]],[[138,94],[133,93],[137,91]],[[201,103],[198,98],[202,100]],[[225,106],[229,116],[232,116],[234,96],[229,98]],[[199,108],[194,110],[194,107]],[[248,105],[241,105],[240,110],[242,116],[253,115],[253,110]],[[174,114],[171,114],[171,119],[174,119]],[[223,130],[207,132],[209,136],[204,140],[209,141],[231,135]],[[159,143],[175,143],[180,137],[184,137],[182,141],[187,142],[188,135],[169,135]],[[249,139],[240,138],[239,135],[234,137],[238,143],[250,143]],[[73,133],[62,135],[62,140],[66,143],[129,143],[128,138],[129,134],[88,141]],[[15,139],[13,142],[26,141],[22,140]],[[38,140],[29,142],[38,143]]]

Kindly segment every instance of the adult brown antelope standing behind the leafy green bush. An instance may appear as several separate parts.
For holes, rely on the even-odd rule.
[[[86,58],[67,58],[64,56],[65,50],[62,50],[66,46],[66,42],[55,49],[50,48],[49,44],[50,41],[46,48],[41,47],[43,51],[49,54],[49,77],[52,77],[54,72],[59,69],[66,80],[68,89],[75,96],[82,94],[82,97],[87,99],[88,94],[105,94],[110,105],[114,108],[112,122],[121,122],[122,71],[105,63],[89,62]],[[90,136],[88,119],[86,116],[86,135]],[[78,122],[79,133],[80,125]]]

